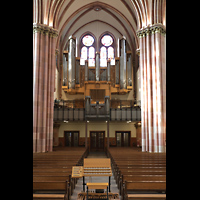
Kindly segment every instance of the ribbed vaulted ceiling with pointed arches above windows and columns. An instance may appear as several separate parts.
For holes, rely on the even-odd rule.
[[[56,49],[70,35],[104,29],[125,36],[131,50],[139,48],[136,31],[149,24],[165,25],[166,0],[33,0],[33,23],[58,30]]]

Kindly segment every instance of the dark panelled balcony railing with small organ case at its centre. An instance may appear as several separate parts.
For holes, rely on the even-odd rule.
[[[141,121],[140,102],[109,100],[91,102],[90,96],[85,100],[57,101],[54,104],[54,121]]]

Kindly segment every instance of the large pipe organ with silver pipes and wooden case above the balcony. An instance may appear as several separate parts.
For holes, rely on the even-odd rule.
[[[133,89],[132,52],[127,51],[125,37],[120,40],[120,57],[115,57],[115,65],[107,60],[107,66],[100,66],[100,52],[95,53],[95,66],[80,65],[76,57],[76,38],[69,37],[67,50],[63,51],[63,84],[62,89],[68,94],[91,96],[90,90],[105,89],[105,95],[127,94]],[[89,92],[87,91],[89,90]],[[107,90],[107,91],[106,91]]]

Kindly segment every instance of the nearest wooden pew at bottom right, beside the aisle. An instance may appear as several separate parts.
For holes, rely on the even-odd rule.
[[[124,200],[166,199],[166,181],[125,181],[123,197]]]

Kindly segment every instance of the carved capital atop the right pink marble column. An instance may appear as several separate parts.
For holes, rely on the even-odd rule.
[[[166,27],[161,24],[153,24],[145,26],[137,31],[138,38],[146,37],[147,35],[153,35],[155,33],[160,33],[162,35],[166,34]]]

